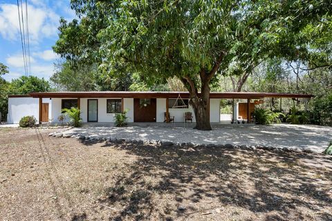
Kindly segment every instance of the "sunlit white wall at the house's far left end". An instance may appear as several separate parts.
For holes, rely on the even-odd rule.
[[[43,103],[48,103],[48,118],[52,119],[52,100],[43,98]],[[8,124],[18,124],[24,116],[34,116],[39,120],[39,98],[9,97],[8,98]]]

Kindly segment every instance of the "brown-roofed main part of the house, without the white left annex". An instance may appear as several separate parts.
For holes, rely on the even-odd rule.
[[[132,122],[157,122],[183,124],[187,126],[195,122],[194,110],[189,104],[190,94],[186,92],[52,92],[30,93],[30,97],[39,100],[39,123],[57,123],[57,118],[62,115],[64,101],[75,102],[77,108],[82,110],[84,123],[113,123],[116,113],[127,110],[129,123]],[[255,106],[261,104],[264,98],[303,98],[308,101],[312,95],[289,93],[210,93],[210,122],[212,124],[237,123],[250,124],[254,122],[252,112]],[[52,101],[50,116],[45,117],[46,105],[43,99]],[[231,119],[223,120],[221,116],[221,100],[232,101]],[[44,108],[44,109],[43,109]],[[192,116],[187,120],[187,113]],[[92,120],[91,120],[92,119]],[[172,119],[172,120],[171,120]],[[167,125],[167,124],[165,124]],[[174,125],[173,125],[174,126]]]

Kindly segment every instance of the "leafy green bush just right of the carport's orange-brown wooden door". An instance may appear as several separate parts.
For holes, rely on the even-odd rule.
[[[256,108],[253,116],[255,117],[256,124],[279,124],[281,123],[280,118],[284,117],[283,113],[275,113],[264,108]]]

